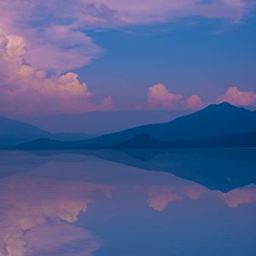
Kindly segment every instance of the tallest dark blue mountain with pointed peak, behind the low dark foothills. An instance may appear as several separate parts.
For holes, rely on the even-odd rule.
[[[168,123],[143,125],[92,139],[85,144],[104,147],[125,143],[139,134],[148,134],[163,142],[199,140],[256,131],[256,112],[228,102],[210,105],[198,112]]]

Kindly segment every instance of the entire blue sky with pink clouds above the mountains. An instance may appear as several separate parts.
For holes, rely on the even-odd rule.
[[[0,113],[256,106],[255,0],[1,0]]]

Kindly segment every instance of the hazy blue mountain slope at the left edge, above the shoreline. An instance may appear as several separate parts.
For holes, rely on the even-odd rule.
[[[0,147],[49,136],[49,132],[34,125],[0,116]]]

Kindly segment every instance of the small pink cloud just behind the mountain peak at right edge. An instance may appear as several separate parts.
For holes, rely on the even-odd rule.
[[[231,86],[223,96],[218,97],[218,102],[230,102],[238,106],[256,105],[256,93]]]

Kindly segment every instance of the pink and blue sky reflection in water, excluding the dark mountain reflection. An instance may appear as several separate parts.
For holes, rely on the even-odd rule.
[[[35,156],[28,155],[36,162]],[[251,256],[256,253],[251,241],[256,235],[255,222],[245,217],[245,214],[250,216],[256,211],[255,208],[241,207],[253,206],[256,201],[255,185],[224,193],[170,173],[145,172],[84,155],[65,154],[50,156],[49,159],[36,157],[39,158],[38,162],[44,163],[42,166],[36,165],[33,170],[27,168],[27,172],[14,174],[9,161],[8,168],[12,172],[9,177],[0,179],[0,256],[141,256],[143,253],[166,256],[170,255],[171,249],[173,255],[215,255],[212,247],[202,247],[202,251],[196,251],[196,245],[193,249],[193,238],[187,241],[187,247],[191,243],[189,251],[183,251],[184,234],[189,230],[198,231],[199,226],[194,223],[201,225],[201,219],[211,214],[215,217],[204,220],[205,224],[212,224],[213,227],[208,227],[211,231],[204,230],[205,224],[202,224],[202,241],[198,238],[196,241],[207,245],[205,236],[214,233],[216,226],[223,227],[223,224],[218,224],[218,215],[225,216],[224,224],[234,226],[239,219],[247,220],[247,229],[251,229],[248,234],[252,236],[247,240],[241,241],[244,236],[226,228],[230,232],[226,236],[234,240],[232,246],[241,244],[236,249],[232,249],[228,241],[228,249],[222,248],[224,238],[218,243],[218,236],[222,236],[222,233],[215,231],[214,239],[221,248],[218,254]],[[2,162],[0,157],[0,166]],[[14,165],[17,166],[17,163]],[[155,162],[156,165],[160,163]],[[209,210],[210,207],[213,210]],[[214,209],[217,209],[217,215],[211,213]],[[237,217],[239,210],[241,212]],[[122,216],[125,216],[124,219]],[[149,222],[143,224],[147,219],[150,219]],[[161,223],[159,230],[153,225],[158,222]],[[163,241],[161,253],[155,252],[152,247],[148,251],[146,247],[141,251],[139,247],[143,238],[137,236],[137,232],[132,231],[129,235],[124,231],[126,225],[132,224],[136,225],[137,232],[142,231],[148,248],[150,243],[154,245],[154,235],[159,237]],[[182,229],[183,232],[179,231]],[[170,233],[172,230],[173,234]],[[111,241],[115,233],[118,238]],[[153,237],[148,237],[148,234]],[[172,237],[171,241],[167,240],[169,236]],[[131,237],[139,243],[138,247],[129,243]],[[119,244],[124,244],[123,247],[116,245],[117,239]],[[112,246],[108,246],[108,243]],[[247,247],[247,251],[243,251],[242,245]]]

